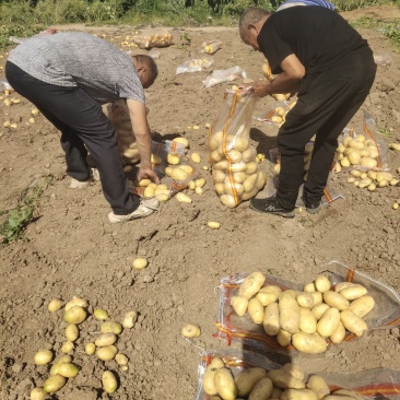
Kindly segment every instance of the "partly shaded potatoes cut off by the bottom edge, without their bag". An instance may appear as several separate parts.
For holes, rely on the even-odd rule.
[[[266,370],[250,367],[236,377],[232,375],[222,358],[214,357],[205,368],[202,387],[210,400],[363,400],[357,392],[349,389],[330,391],[320,375],[310,375],[293,364]]]

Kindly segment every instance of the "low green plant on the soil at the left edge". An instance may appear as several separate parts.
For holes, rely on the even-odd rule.
[[[42,195],[54,177],[48,175],[40,180],[34,181],[19,196],[16,207],[10,210],[0,210],[0,215],[5,215],[0,224],[0,240],[11,243],[22,238],[26,226],[34,220],[34,213],[42,199]]]

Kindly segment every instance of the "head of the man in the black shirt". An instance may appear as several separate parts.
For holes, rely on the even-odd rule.
[[[259,7],[250,7],[240,16],[239,34],[242,40],[257,51],[260,50],[257,36],[260,33],[263,23],[270,15],[271,14],[268,11]]]

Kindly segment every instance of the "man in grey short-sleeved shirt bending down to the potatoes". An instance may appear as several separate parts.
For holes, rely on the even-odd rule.
[[[37,35],[10,51],[5,77],[61,131],[72,186],[84,186],[91,179],[86,162],[87,151],[91,153],[113,210],[108,213],[111,223],[146,216],[157,209],[156,199],[140,200],[130,193],[115,128],[102,111],[102,104],[127,101],[141,157],[138,180],[158,183],[150,161],[151,132],[144,98],[144,89],[157,77],[152,58],[131,57],[85,33]]]

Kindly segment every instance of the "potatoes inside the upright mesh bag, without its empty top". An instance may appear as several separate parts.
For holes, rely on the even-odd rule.
[[[217,131],[209,140],[214,188],[221,202],[234,208],[251,199],[266,185],[266,174],[258,170],[257,152],[243,136]]]

